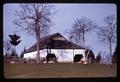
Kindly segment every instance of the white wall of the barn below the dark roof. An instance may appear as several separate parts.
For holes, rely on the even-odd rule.
[[[36,51],[24,54],[26,59],[35,59]],[[40,50],[40,57],[47,56],[47,49]],[[73,62],[73,56],[75,54],[83,54],[83,59],[85,59],[85,50],[83,49],[51,49],[51,53],[55,54],[58,58],[58,62]]]

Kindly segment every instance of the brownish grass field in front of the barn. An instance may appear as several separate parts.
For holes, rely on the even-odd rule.
[[[116,65],[102,64],[4,64],[5,78],[116,77]]]

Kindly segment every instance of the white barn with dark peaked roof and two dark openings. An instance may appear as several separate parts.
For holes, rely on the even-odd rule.
[[[37,43],[27,49],[25,59],[36,59]],[[60,33],[55,33],[40,39],[40,58],[48,54],[54,54],[58,62],[73,62],[76,55],[83,55],[85,60],[85,49],[68,41]]]

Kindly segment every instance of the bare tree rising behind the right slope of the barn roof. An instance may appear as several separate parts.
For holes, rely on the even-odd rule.
[[[72,29],[68,31],[69,37],[76,43],[81,43],[82,39],[83,47],[85,47],[85,33],[90,32],[95,27],[97,27],[97,25],[91,19],[81,17],[80,19],[75,20]]]

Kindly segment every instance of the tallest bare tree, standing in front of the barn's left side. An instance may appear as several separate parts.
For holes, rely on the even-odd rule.
[[[52,5],[50,4],[21,4],[20,10],[16,11],[18,19],[14,24],[21,27],[22,30],[30,34],[35,34],[37,41],[37,57],[40,62],[40,38],[49,32],[49,27],[52,25],[51,12]]]

